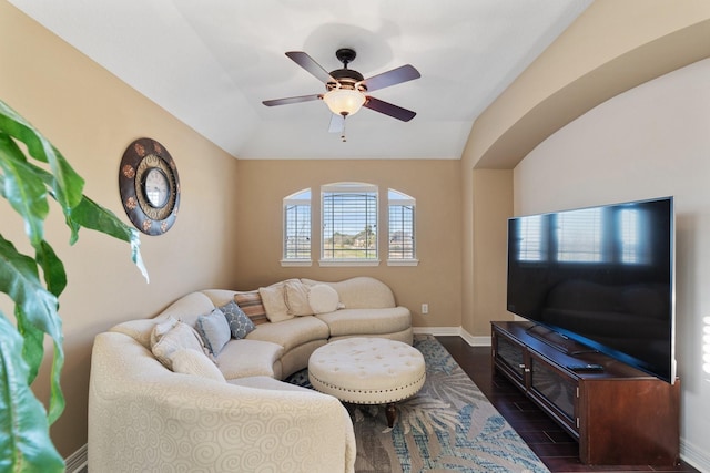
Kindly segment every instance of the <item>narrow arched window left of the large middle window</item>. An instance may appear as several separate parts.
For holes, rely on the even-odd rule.
[[[311,189],[284,198],[284,263],[311,264]]]

